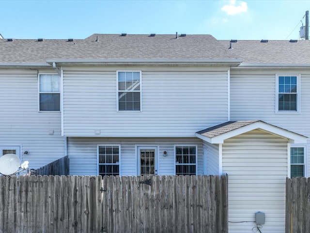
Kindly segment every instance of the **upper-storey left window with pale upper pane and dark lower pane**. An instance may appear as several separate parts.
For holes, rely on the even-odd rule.
[[[60,111],[59,75],[39,75],[39,111]]]

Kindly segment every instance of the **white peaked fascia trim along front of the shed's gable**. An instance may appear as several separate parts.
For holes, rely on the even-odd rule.
[[[307,137],[306,136],[281,129],[279,127],[272,126],[272,125],[266,124],[266,123],[261,122],[261,121],[254,122],[252,124],[243,126],[241,128],[238,128],[238,129],[232,130],[230,132],[223,133],[223,134],[211,137],[211,138],[200,135],[198,133],[196,133],[196,136],[198,138],[201,138],[202,140],[207,141],[207,142],[212,143],[212,144],[222,144],[222,143],[224,143],[225,139],[240,135],[242,133],[247,133],[249,131],[256,130],[256,129],[263,130],[267,133],[276,134],[276,135],[283,137],[283,138],[287,138],[287,139],[289,139],[290,143],[307,143]]]

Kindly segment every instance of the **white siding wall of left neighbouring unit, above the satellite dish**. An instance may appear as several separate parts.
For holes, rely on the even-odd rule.
[[[33,169],[65,154],[61,114],[38,112],[37,77],[37,70],[0,70],[0,145],[20,146],[22,160]]]

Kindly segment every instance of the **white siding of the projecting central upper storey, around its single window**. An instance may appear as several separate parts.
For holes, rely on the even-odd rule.
[[[116,111],[116,70],[63,76],[66,136],[188,137],[227,120],[227,70],[142,70],[141,112]]]

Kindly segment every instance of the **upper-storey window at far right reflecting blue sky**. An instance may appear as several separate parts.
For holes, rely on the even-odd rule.
[[[299,75],[277,75],[278,112],[298,112]]]

